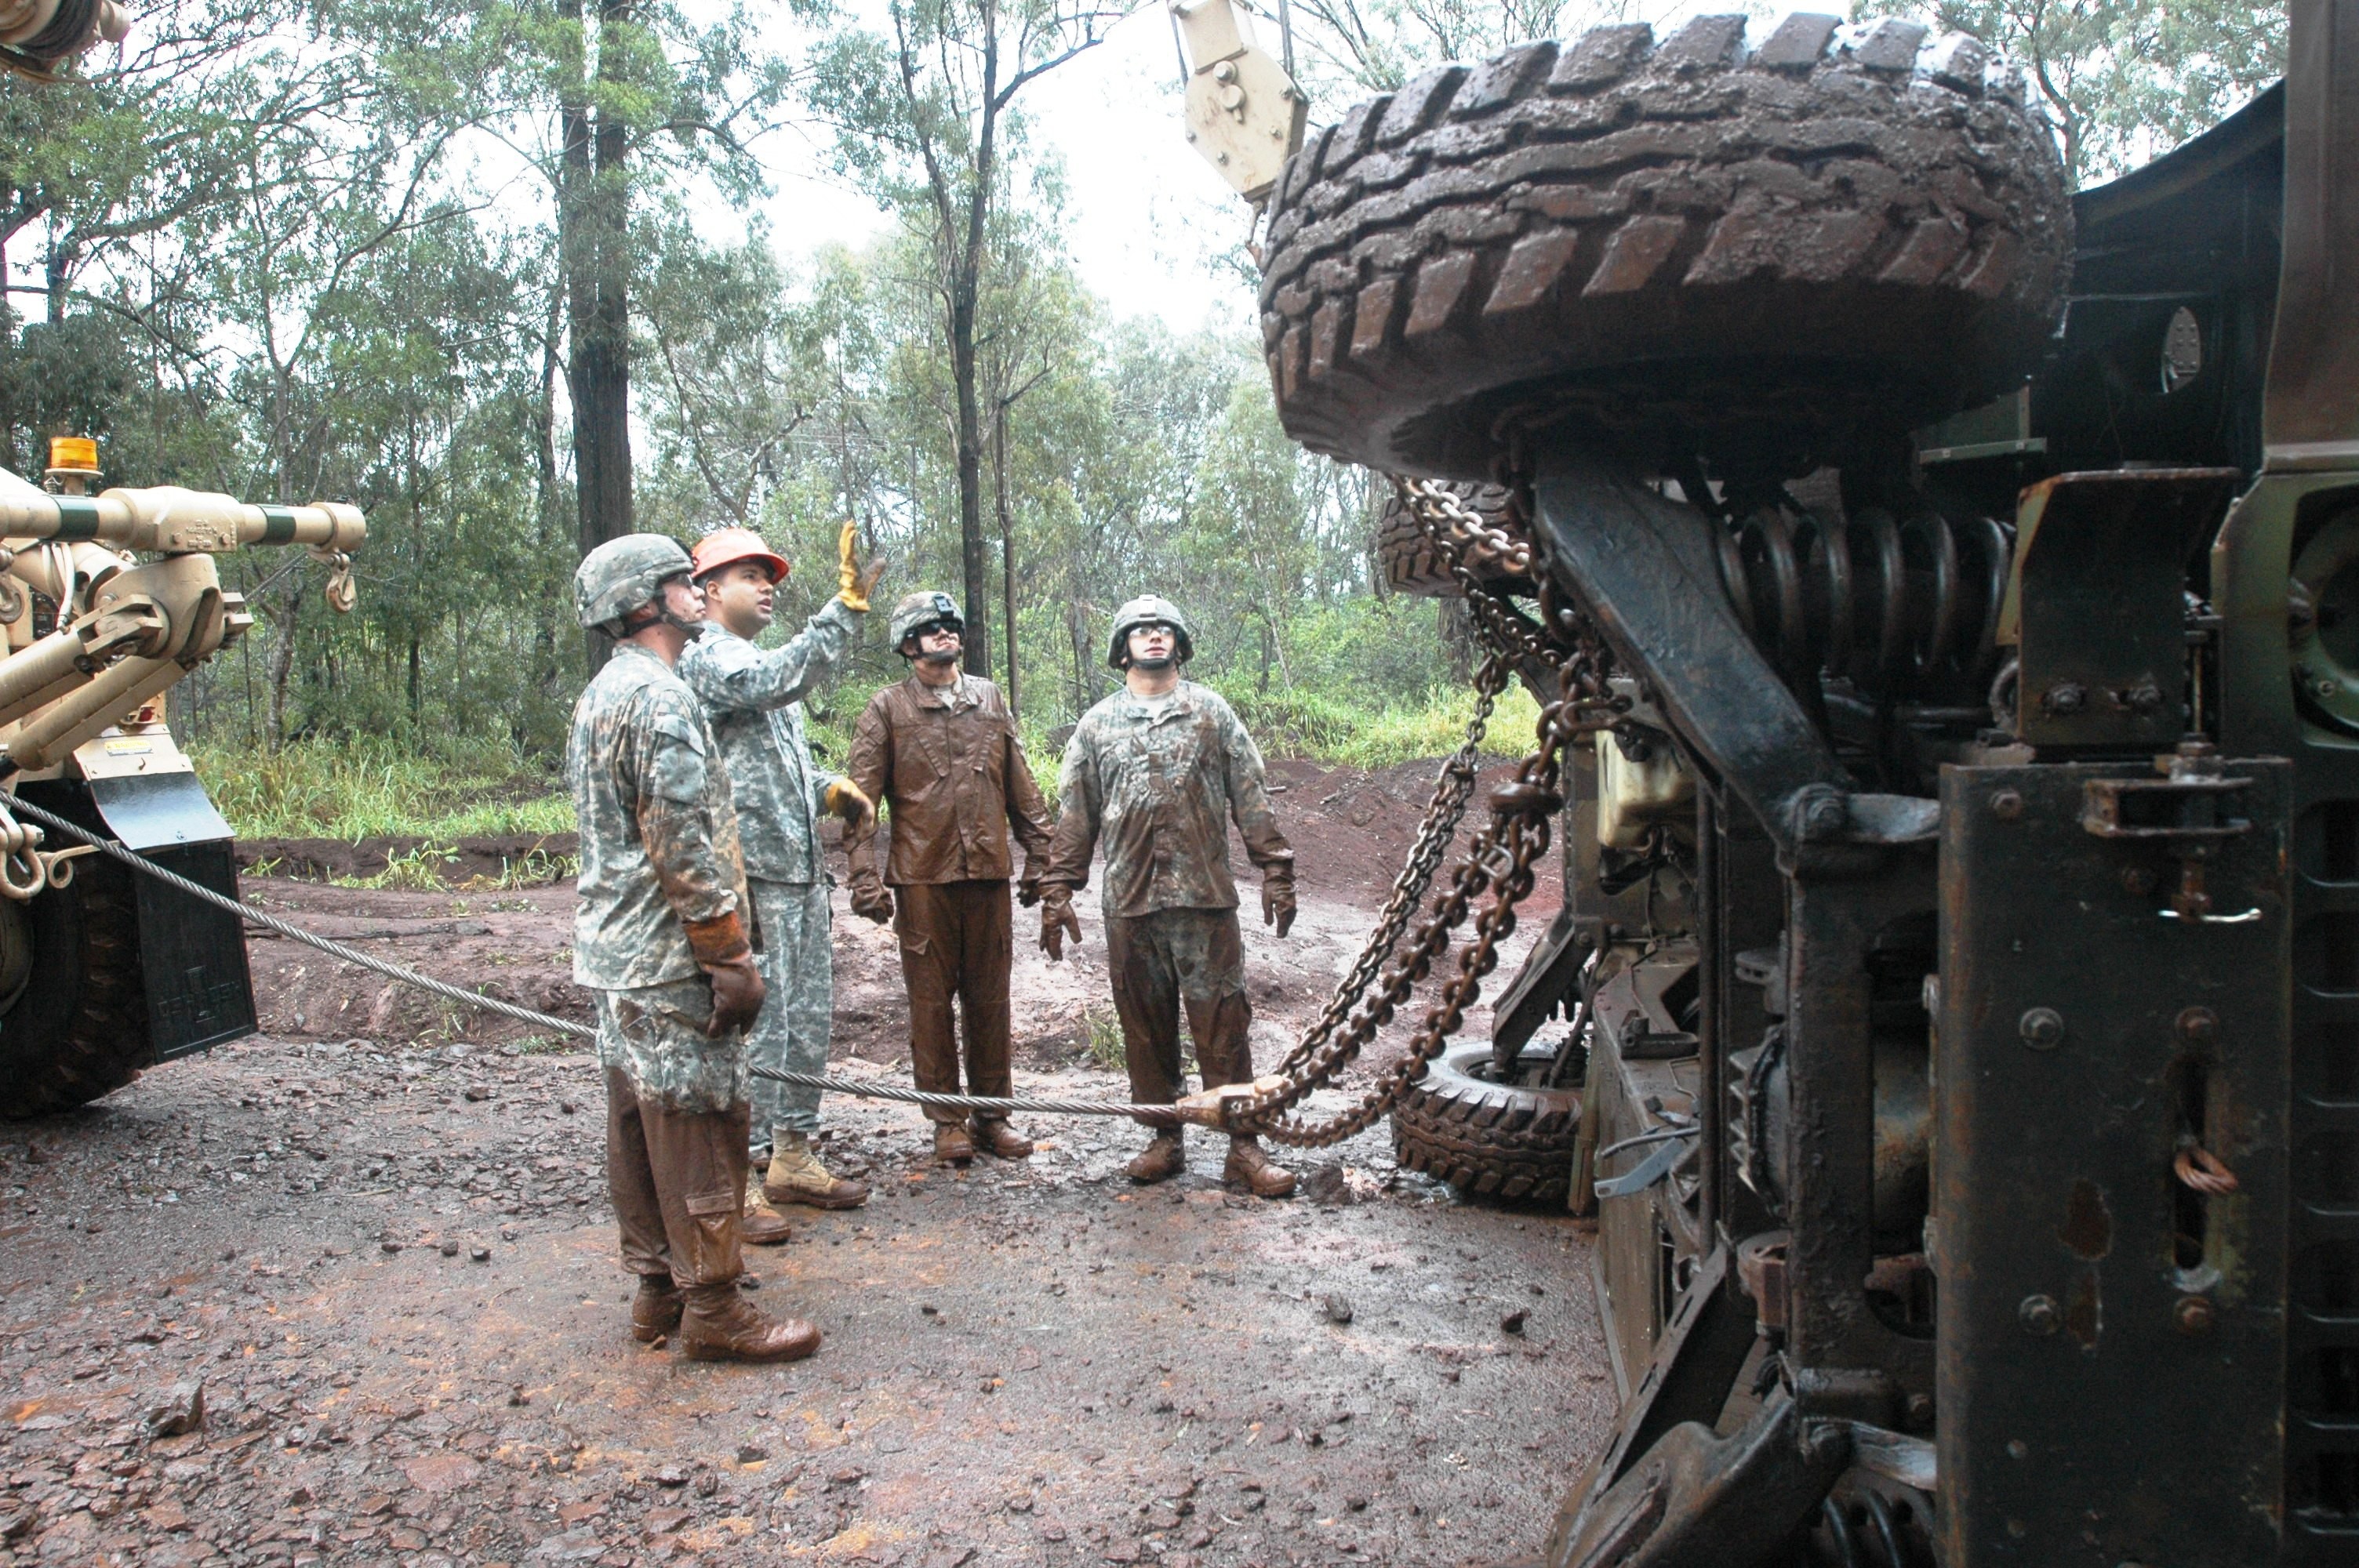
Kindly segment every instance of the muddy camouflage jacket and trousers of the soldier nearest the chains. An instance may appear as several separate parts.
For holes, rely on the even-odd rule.
[[[1229,818],[1267,879],[1293,877],[1262,783],[1262,752],[1220,693],[1180,681],[1116,691],[1073,729],[1057,783],[1062,816],[1043,882],[1085,887],[1102,842],[1106,967],[1135,1103],[1180,1092],[1187,1009],[1203,1085],[1248,1082],[1243,938],[1229,877]]]

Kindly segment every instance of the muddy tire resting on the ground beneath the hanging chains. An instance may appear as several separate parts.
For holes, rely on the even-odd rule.
[[[1444,1054],[1392,1106],[1392,1155],[1463,1193],[1564,1203],[1578,1089],[1493,1082],[1489,1045]]]

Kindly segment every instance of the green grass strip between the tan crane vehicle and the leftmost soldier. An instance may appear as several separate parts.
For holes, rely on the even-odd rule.
[[[238,837],[370,839],[573,832],[573,802],[505,743],[420,750],[394,740],[309,740],[276,757],[191,747]]]

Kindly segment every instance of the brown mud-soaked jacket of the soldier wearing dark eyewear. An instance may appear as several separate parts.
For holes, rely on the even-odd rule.
[[[1005,882],[1014,875],[1007,830],[1024,844],[1024,872],[1047,854],[1047,802],[1033,783],[1017,722],[1000,689],[962,674],[948,703],[915,674],[868,698],[845,771],[892,811],[885,879]],[[875,825],[845,839],[854,877],[875,875]]]

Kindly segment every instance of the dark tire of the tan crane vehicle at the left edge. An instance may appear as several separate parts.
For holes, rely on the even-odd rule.
[[[149,1061],[130,872],[83,856],[68,887],[0,908],[0,1115],[94,1101]]]

